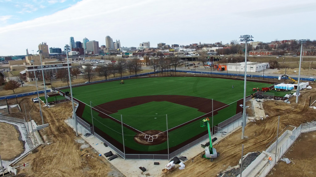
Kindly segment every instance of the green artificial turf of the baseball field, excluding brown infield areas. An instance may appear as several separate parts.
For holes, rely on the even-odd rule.
[[[242,99],[244,94],[244,81],[231,79],[208,77],[154,77],[127,79],[124,81],[125,84],[120,84],[119,82],[120,81],[113,81],[84,85],[72,88],[72,91],[76,99],[88,105],[90,105],[90,101],[92,101],[93,106],[113,100],[146,95],[187,95],[214,99],[229,104],[228,107],[218,111],[218,114],[214,115],[214,125],[236,114],[236,101]],[[234,88],[232,88],[232,85],[234,85]],[[271,86],[271,84],[247,82],[246,93],[250,95],[252,88],[269,86]],[[62,91],[69,91],[69,89]],[[210,112],[211,111],[212,107],[210,106]],[[165,131],[167,129],[166,114],[168,115],[168,129],[204,115],[203,112],[199,112],[191,107],[167,101],[153,101],[119,110],[119,112],[111,114],[110,116],[120,121],[122,115],[124,123],[140,131],[152,129]],[[91,110],[88,106],[85,106],[82,117],[92,123]],[[123,142],[121,124],[115,123],[111,119],[99,117],[99,113],[96,111],[93,111],[93,117],[95,127],[115,140],[121,143]],[[169,132],[169,147],[177,146],[197,134],[206,132],[206,128],[200,127],[201,120],[202,118]],[[125,127],[123,130],[125,146],[131,149],[139,151],[159,151],[167,148],[167,142],[154,146],[140,145],[133,140],[136,135],[134,131]]]

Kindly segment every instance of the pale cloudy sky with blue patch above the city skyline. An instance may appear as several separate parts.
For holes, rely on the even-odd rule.
[[[315,0],[0,0],[0,56],[63,49],[70,37],[122,47],[316,39]],[[32,51],[34,50],[34,51]]]

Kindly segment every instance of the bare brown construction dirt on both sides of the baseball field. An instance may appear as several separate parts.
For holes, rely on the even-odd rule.
[[[266,145],[276,136],[278,116],[280,116],[280,130],[287,125],[297,127],[301,123],[315,121],[316,110],[308,107],[310,96],[314,100],[316,98],[316,84],[314,85],[315,88],[311,83],[313,87],[311,90],[301,91],[299,104],[295,103],[295,97],[290,99],[291,104],[265,100],[263,102],[264,111],[269,117],[248,123],[245,128],[245,136],[248,138],[240,139],[240,128],[217,143],[214,147],[220,152],[220,156],[213,162],[201,158],[201,155],[198,154],[193,160],[189,159],[185,162],[185,169],[177,168],[170,173],[161,174],[161,176],[215,177],[221,171],[238,164],[242,144],[244,144],[244,154],[266,150]],[[35,121],[41,124],[38,104],[34,105],[30,101],[30,97],[22,97],[18,101],[21,102],[21,107],[23,107],[23,103],[27,105],[27,112],[30,111]],[[252,114],[251,107],[247,108],[249,114]],[[82,176],[82,174],[85,176],[124,176],[105,158],[98,157],[90,146],[80,151],[80,146],[84,145],[84,141],[80,137],[77,138],[74,131],[64,123],[64,120],[71,115],[70,102],[57,104],[50,108],[42,107],[42,109],[44,123],[49,123],[49,127],[40,130],[40,134],[44,141],[52,142],[52,144],[40,146],[37,148],[38,152],[24,158],[22,163],[30,163],[19,169],[20,174],[26,176]],[[22,111],[24,112],[24,109]],[[23,118],[23,112],[10,116]],[[281,174],[289,171],[287,168],[290,167],[292,173],[283,176],[315,176],[316,170],[310,166],[315,164],[313,149],[316,148],[316,145],[313,140],[315,140],[314,132],[301,134],[294,146],[290,148],[292,151],[285,155],[296,163],[284,166],[284,163],[280,162],[275,166],[276,170],[272,170],[270,173],[273,173],[274,176],[282,176]],[[295,148],[299,148],[300,151],[293,153]],[[81,157],[86,150],[90,153],[89,156]],[[201,148],[200,153],[203,151],[204,149]],[[163,165],[161,165],[161,169],[163,169]]]

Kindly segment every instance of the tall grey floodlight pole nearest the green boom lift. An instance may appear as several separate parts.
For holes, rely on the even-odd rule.
[[[242,133],[241,133],[241,139],[244,139],[245,134],[245,126],[246,126],[246,82],[247,82],[247,42],[253,41],[251,38],[253,38],[251,35],[240,35],[240,42],[246,42],[245,43],[245,81],[244,81],[244,104],[243,104],[243,123],[242,123]]]

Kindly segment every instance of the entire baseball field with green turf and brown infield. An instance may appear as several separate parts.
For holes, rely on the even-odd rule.
[[[125,152],[130,154],[166,154],[167,144],[170,152],[185,146],[207,134],[200,121],[212,120],[212,110],[214,126],[240,112],[244,94],[244,81],[235,79],[173,76],[124,82],[88,84],[72,91],[85,103],[79,104],[77,116],[91,125],[93,116],[94,131],[121,151],[124,136]],[[246,93],[271,85],[247,82]]]

